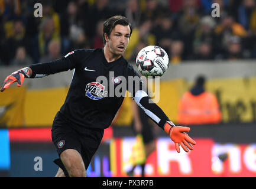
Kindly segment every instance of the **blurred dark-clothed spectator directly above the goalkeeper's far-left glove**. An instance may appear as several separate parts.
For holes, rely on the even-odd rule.
[[[10,66],[25,66],[31,64],[32,60],[27,55],[25,47],[18,47],[16,50],[15,58],[9,64]]]

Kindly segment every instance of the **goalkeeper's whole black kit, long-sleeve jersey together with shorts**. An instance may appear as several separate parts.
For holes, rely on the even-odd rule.
[[[29,67],[33,72],[30,78],[74,70],[66,100],[53,121],[52,138],[59,155],[64,149],[76,149],[82,154],[86,168],[98,149],[103,130],[111,125],[118,112],[126,90],[162,129],[169,120],[148,97],[140,75],[127,60],[121,56],[108,63],[103,48],[74,50],[58,60]],[[54,162],[64,169],[60,159]]]

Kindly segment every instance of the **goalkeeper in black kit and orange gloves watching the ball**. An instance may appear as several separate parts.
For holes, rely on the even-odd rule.
[[[38,78],[61,71],[74,70],[66,100],[57,112],[51,129],[53,143],[59,159],[56,177],[86,177],[86,170],[101,143],[104,129],[108,128],[121,106],[123,95],[111,95],[112,90],[104,83],[96,82],[105,76],[114,89],[122,83],[121,78],[140,77],[122,56],[127,48],[132,27],[128,19],[114,16],[103,24],[103,48],[79,49],[49,63],[31,64],[9,75],[2,85],[1,92],[14,83],[21,86],[25,78]],[[110,77],[110,72],[114,73]],[[121,77],[122,76],[122,77]],[[130,91],[135,102],[160,128],[174,141],[177,152],[180,146],[184,151],[192,150],[196,142],[186,132],[190,128],[174,126],[160,109],[139,87],[134,84]],[[127,84],[128,86],[128,84]],[[192,144],[192,145],[191,145]]]

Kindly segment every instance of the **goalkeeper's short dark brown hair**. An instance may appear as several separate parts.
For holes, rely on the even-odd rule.
[[[116,15],[116,16],[113,16],[111,18],[108,18],[103,24],[103,43],[104,43],[104,45],[106,44],[105,34],[108,35],[108,37],[109,37],[112,30],[118,24],[120,24],[120,25],[129,25],[130,30],[131,30],[131,32],[130,32],[130,37],[131,37],[132,26],[131,26],[131,23],[129,22],[128,18],[122,17],[121,15]]]

